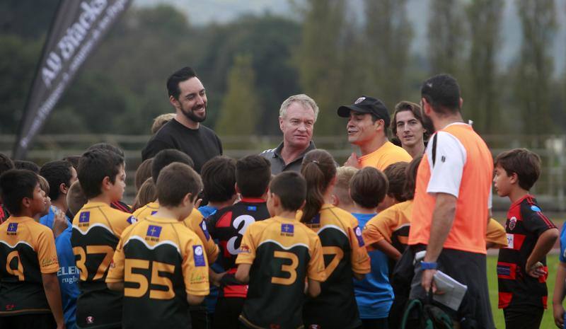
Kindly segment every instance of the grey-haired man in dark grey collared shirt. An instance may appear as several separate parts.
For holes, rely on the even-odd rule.
[[[273,175],[282,171],[301,171],[306,152],[316,149],[312,139],[317,116],[318,105],[304,94],[291,96],[281,104],[279,128],[283,132],[283,142],[260,154],[270,161]]]

